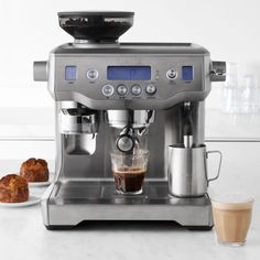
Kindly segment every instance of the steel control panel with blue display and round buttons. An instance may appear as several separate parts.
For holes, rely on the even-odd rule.
[[[203,56],[61,56],[55,69],[56,90],[94,100],[162,100],[205,90]]]

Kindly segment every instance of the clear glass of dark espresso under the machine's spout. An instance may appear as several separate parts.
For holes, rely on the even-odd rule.
[[[138,153],[111,153],[111,170],[116,193],[126,195],[142,194],[143,180],[148,170],[149,151]]]

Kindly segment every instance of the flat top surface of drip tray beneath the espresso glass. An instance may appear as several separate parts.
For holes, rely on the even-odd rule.
[[[205,205],[207,196],[198,198],[177,198],[169,195],[167,182],[147,181],[143,194],[116,194],[113,181],[57,182],[52,199],[57,204],[180,204]]]

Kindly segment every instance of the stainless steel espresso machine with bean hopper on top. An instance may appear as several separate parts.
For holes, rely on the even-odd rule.
[[[34,80],[47,82],[55,100],[55,178],[42,198],[47,229],[90,220],[213,227],[206,192],[172,193],[167,148],[204,145],[205,98],[212,82],[225,80],[226,64],[193,43],[119,42],[133,14],[59,12],[74,42],[34,62]],[[150,152],[143,191],[118,194],[110,152],[131,152],[133,137]]]

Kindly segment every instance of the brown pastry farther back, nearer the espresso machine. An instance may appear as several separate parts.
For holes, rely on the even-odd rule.
[[[28,182],[47,182],[47,162],[43,159],[30,158],[22,163],[20,175],[23,176]]]

